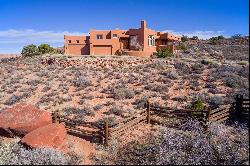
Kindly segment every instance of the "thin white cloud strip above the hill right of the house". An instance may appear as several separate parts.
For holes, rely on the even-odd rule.
[[[188,37],[198,36],[199,39],[209,39],[211,37],[219,36],[219,35],[226,36],[224,34],[224,31],[210,31],[210,30],[182,31],[182,32],[178,32],[174,30],[165,30],[163,32],[170,32],[176,35],[186,35]]]

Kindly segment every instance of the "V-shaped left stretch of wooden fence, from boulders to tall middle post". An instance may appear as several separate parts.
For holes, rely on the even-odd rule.
[[[89,139],[93,142],[104,143],[108,145],[110,138],[117,138],[121,136],[128,129],[133,129],[138,125],[147,121],[147,113],[140,112],[133,117],[124,119],[119,124],[111,125],[108,121],[105,121],[103,126],[99,127],[93,122],[83,122],[79,120],[73,120],[66,116],[60,115],[57,112],[52,114],[53,122],[64,122],[67,132],[71,134],[77,134],[85,139]]]

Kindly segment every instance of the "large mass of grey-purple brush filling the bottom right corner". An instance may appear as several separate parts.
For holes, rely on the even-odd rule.
[[[241,165],[249,161],[248,130],[211,124],[202,132],[198,122],[188,121],[184,128],[162,127],[160,135],[146,141],[130,142],[107,158],[123,165]],[[147,157],[145,157],[147,156]],[[105,159],[104,159],[105,160]]]

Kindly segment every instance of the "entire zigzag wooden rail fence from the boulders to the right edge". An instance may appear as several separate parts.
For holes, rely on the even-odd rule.
[[[97,125],[94,122],[73,120],[57,112],[53,113],[53,121],[64,122],[69,133],[77,134],[85,138],[89,137],[90,140],[94,142],[108,145],[111,138],[118,138],[128,130],[145,123],[165,125],[164,121],[160,121],[156,117],[163,119],[178,118],[183,120],[188,117],[193,117],[206,129],[209,122],[221,123],[230,119],[245,122],[248,121],[248,116],[249,99],[244,99],[242,96],[236,96],[233,107],[232,105],[223,105],[213,110],[209,107],[205,107],[204,110],[173,109],[170,107],[153,106],[147,101],[146,111],[144,110],[134,114],[132,117],[128,117],[116,124],[104,121],[103,124]]]

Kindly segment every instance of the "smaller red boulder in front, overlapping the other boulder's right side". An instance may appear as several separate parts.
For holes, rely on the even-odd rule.
[[[26,134],[21,142],[32,148],[60,148],[67,136],[63,123],[53,123]]]

